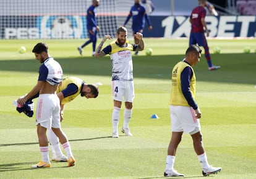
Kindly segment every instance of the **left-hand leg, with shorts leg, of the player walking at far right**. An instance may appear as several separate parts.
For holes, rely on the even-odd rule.
[[[171,105],[169,107],[170,116],[171,116],[171,129],[172,129],[172,136],[169,142],[167,156],[166,156],[166,169],[164,171],[164,177],[179,177],[184,176],[182,173],[178,173],[174,170],[174,162],[176,156],[176,150],[181,142],[183,130],[181,122],[179,121],[179,117],[175,113],[176,106]]]

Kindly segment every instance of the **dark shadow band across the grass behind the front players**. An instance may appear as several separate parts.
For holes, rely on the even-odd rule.
[[[255,83],[255,54],[213,54],[213,64],[220,70],[208,71],[207,62],[202,55],[201,62],[195,67],[198,81],[231,82],[241,84]],[[134,78],[170,79],[173,66],[184,55],[156,55],[133,57]],[[111,62],[108,56],[103,58],[56,58],[61,64],[64,76],[69,74],[108,76],[111,78]],[[0,60],[0,71],[38,73],[40,63],[31,60]]]

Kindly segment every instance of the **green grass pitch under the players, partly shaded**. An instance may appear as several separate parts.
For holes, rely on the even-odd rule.
[[[41,159],[35,116],[19,114],[12,102],[36,84],[40,63],[31,50],[40,41],[2,40],[0,178],[163,178],[171,137],[171,70],[184,58],[188,39],[145,39],[145,49],[151,48],[153,53],[134,56],[135,99],[130,121],[134,136],[126,137],[119,131],[119,138],[111,138],[109,57],[92,57],[91,45],[80,57],[77,46],[83,40],[43,41],[48,43],[51,56],[61,63],[64,76],[77,76],[87,83],[101,82],[103,86],[98,98],[77,97],[66,105],[62,129],[69,137],[77,164],[66,167],[66,163],[52,162],[51,169],[32,169],[30,165]],[[256,39],[209,39],[208,45],[213,64],[221,69],[208,71],[202,55],[194,70],[208,161],[223,168],[214,178],[256,178]],[[27,48],[25,54],[18,53],[20,46]],[[250,54],[243,53],[245,46],[250,47]],[[213,54],[214,47],[220,47],[221,54]],[[160,119],[150,119],[152,114]],[[121,113],[119,130],[122,122]],[[174,168],[185,178],[202,178],[187,134],[177,150]]]

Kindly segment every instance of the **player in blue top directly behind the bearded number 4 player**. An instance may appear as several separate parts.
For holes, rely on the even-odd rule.
[[[140,0],[134,0],[134,6],[130,8],[129,15],[126,18],[126,22],[124,22],[123,26],[126,26],[127,22],[132,17],[132,31],[134,34],[142,33],[145,27],[145,20],[148,23],[148,30],[152,30],[152,25],[150,22],[150,18],[147,15],[145,7],[140,5]],[[139,44],[139,40],[134,38],[134,43]],[[135,52],[135,55],[138,55],[139,52]]]

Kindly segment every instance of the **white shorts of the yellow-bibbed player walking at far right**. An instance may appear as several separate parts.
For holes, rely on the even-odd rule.
[[[171,130],[173,132],[186,132],[190,135],[200,131],[200,121],[195,117],[195,111],[189,106],[169,107],[171,114]]]

